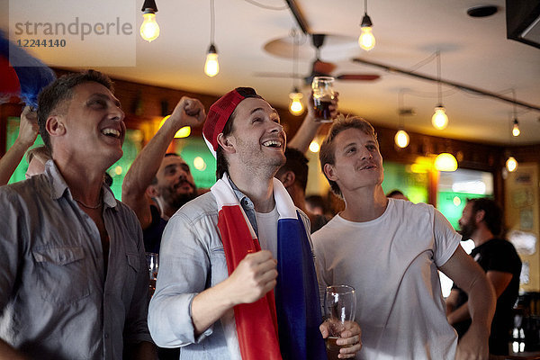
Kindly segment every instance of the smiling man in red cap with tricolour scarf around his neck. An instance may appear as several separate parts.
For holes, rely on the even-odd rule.
[[[168,221],[148,326],[181,359],[326,359],[309,220],[275,173],[285,133],[275,109],[239,87],[211,106],[203,135],[217,158],[210,193]],[[340,358],[360,349],[356,323]]]

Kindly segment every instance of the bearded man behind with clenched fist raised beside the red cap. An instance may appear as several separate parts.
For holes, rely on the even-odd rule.
[[[199,126],[204,118],[202,103],[183,96],[124,177],[121,200],[137,214],[148,252],[159,252],[166,221],[185,202],[197,196],[190,167],[177,154],[166,154],[166,149],[177,130],[184,126]],[[157,206],[151,204],[152,199]]]

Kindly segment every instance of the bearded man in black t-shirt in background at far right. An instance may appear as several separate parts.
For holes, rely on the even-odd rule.
[[[490,353],[508,355],[510,329],[513,326],[512,308],[518,297],[521,260],[516,248],[500,238],[502,210],[491,199],[468,200],[459,225],[463,240],[473,239],[475,247],[471,256],[482,266],[497,294],[497,309],[491,323]],[[454,326],[460,338],[471,323],[467,300],[467,294],[457,287],[446,299],[448,322]]]

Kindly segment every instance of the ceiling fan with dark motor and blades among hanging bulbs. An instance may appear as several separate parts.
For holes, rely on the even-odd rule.
[[[374,81],[377,80],[380,75],[377,74],[337,74],[334,75],[333,72],[336,69],[336,64],[331,62],[322,61],[320,59],[320,48],[324,44],[326,39],[326,34],[311,34],[311,43],[315,48],[315,59],[311,65],[311,74],[307,76],[300,76],[297,74],[288,74],[288,73],[275,73],[275,72],[264,72],[257,73],[256,76],[264,77],[293,77],[293,78],[302,78],[306,85],[311,85],[313,77],[315,76],[333,76],[337,80],[354,80],[354,81]]]

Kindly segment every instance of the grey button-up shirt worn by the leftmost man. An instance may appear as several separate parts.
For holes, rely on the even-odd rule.
[[[52,161],[0,187],[0,338],[31,358],[121,359],[151,341],[148,267],[139,221],[103,185],[110,238],[105,278],[94,221]]]

